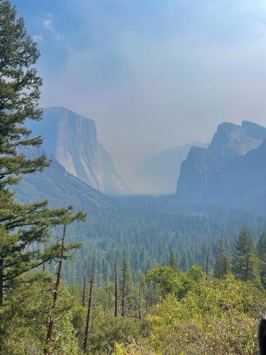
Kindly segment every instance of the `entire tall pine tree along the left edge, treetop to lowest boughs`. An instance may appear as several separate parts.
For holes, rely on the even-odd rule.
[[[26,119],[38,121],[42,116],[38,106],[42,80],[34,67],[39,55],[23,18],[16,18],[10,1],[0,0],[0,307],[4,289],[14,278],[58,255],[56,244],[40,248],[49,239],[50,227],[84,219],[81,212],[73,214],[72,206],[49,209],[47,201],[19,204],[9,190],[21,175],[49,165],[44,155],[30,159],[21,153],[22,148],[42,143],[25,126]]]

